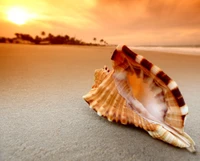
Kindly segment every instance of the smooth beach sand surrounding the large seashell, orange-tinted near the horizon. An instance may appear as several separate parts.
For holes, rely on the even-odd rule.
[[[136,51],[179,85],[196,154],[108,122],[82,99],[114,48],[0,44],[1,161],[200,160],[200,56]]]

